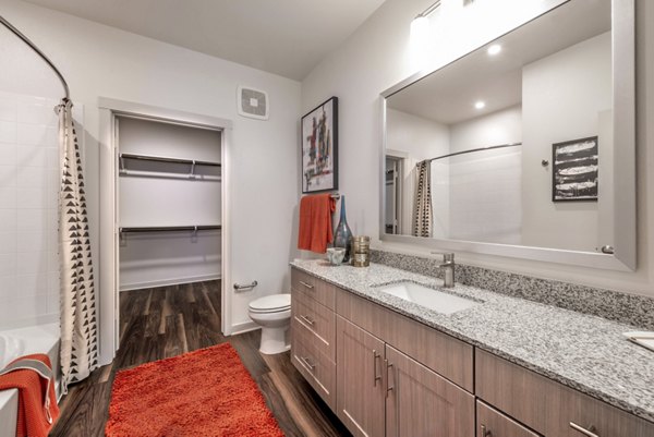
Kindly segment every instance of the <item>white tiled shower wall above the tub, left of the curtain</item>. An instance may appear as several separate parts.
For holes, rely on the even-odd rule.
[[[59,317],[57,104],[0,92],[0,329]]]

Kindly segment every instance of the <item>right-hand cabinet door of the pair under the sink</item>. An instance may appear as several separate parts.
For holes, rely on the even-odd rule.
[[[474,396],[386,345],[387,437],[474,436]]]

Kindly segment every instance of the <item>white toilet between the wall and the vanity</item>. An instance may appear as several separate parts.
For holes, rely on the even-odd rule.
[[[250,318],[262,327],[259,352],[268,355],[291,349],[288,330],[291,325],[291,295],[272,294],[250,302]]]

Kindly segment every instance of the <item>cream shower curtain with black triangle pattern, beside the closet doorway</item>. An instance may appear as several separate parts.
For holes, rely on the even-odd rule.
[[[62,389],[86,378],[98,365],[97,317],[85,184],[73,105],[63,99],[59,112],[59,256]]]

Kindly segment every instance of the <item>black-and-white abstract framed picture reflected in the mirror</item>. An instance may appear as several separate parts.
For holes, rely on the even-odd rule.
[[[597,201],[597,137],[552,145],[552,201]]]

